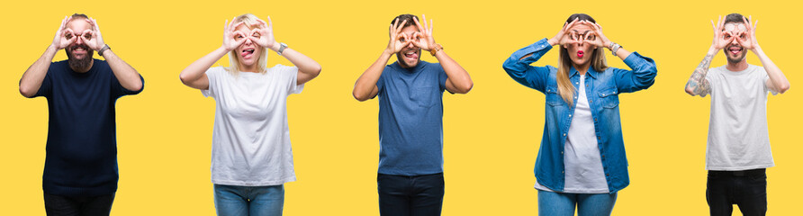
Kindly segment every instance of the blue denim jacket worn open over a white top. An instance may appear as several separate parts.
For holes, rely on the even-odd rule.
[[[523,49],[519,49],[502,65],[508,75],[521,85],[534,88],[546,94],[546,122],[544,137],[536,159],[535,174],[538,184],[547,188],[564,191],[564,145],[566,133],[572,123],[574,106],[569,106],[558,93],[556,73],[557,68],[552,66],[530,66],[546,54],[552,46],[546,39]],[[528,54],[532,56],[522,58]],[[646,89],[653,85],[657,70],[651,58],[645,58],[636,52],[625,58],[626,70],[608,67],[605,71],[596,71],[593,67],[588,69],[585,76],[585,90],[588,96],[591,116],[594,118],[594,131],[597,135],[597,145],[600,148],[602,169],[608,182],[610,193],[625,188],[630,184],[627,176],[627,157],[625,156],[625,143],[622,139],[622,126],[619,118],[620,93],[631,93]],[[570,80],[574,89],[579,89],[580,75],[571,68]],[[577,104],[577,93],[574,94],[574,103]]]

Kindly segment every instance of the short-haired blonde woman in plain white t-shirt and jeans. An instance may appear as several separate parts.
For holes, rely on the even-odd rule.
[[[266,67],[267,49],[293,67]],[[229,54],[229,67],[212,67]],[[181,82],[215,99],[212,183],[218,215],[281,215],[284,183],[295,181],[287,96],[320,65],[276,42],[273,23],[252,14],[226,21],[223,44],[181,72]]]

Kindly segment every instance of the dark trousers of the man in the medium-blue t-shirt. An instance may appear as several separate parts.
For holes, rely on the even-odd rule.
[[[379,188],[379,214],[440,215],[443,207],[443,173],[433,175],[376,176]]]

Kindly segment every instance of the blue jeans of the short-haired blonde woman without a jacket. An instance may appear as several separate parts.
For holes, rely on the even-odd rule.
[[[214,184],[214,207],[218,215],[282,215],[284,184],[235,186]]]

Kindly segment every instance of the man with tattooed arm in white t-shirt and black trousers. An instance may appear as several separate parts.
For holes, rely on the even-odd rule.
[[[786,92],[789,80],[758,45],[756,23],[742,14],[728,14],[725,20],[720,16],[716,25],[711,21],[714,41],[686,84],[686,93],[711,94],[706,152],[711,215],[731,215],[733,204],[744,215],[767,211],[766,168],[775,166],[767,131],[767,92]],[[719,49],[725,49],[727,64],[709,69]],[[747,50],[763,67],[747,64]]]

